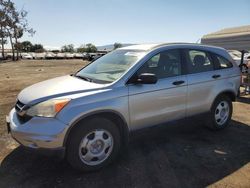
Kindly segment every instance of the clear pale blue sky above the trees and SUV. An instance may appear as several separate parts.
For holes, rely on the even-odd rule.
[[[61,47],[149,42],[196,42],[227,27],[250,25],[250,0],[14,0],[29,12],[33,37]]]

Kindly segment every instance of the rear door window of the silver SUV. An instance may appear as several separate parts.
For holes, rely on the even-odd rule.
[[[206,72],[214,69],[212,59],[207,52],[187,50],[186,59],[189,73]]]

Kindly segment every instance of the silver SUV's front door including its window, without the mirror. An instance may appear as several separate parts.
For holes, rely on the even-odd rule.
[[[153,56],[134,76],[142,73],[155,74],[158,81],[128,85],[131,128],[140,129],[184,118],[187,77],[182,75],[180,51],[167,50]]]

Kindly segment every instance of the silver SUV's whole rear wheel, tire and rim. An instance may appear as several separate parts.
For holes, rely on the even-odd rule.
[[[232,117],[232,101],[228,96],[219,96],[213,103],[209,115],[209,127],[213,130],[225,128]]]

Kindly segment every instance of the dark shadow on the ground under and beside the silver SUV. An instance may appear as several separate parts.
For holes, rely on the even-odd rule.
[[[81,173],[65,161],[18,147],[2,161],[0,187],[204,187],[250,162],[250,127],[213,132],[199,119],[132,133],[120,159]]]

